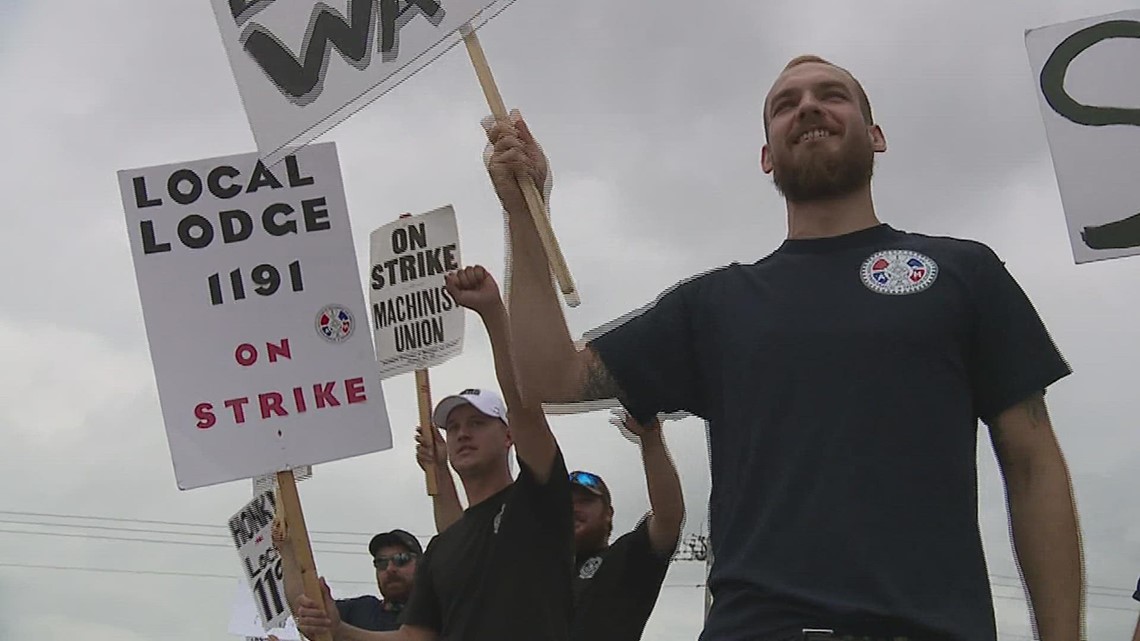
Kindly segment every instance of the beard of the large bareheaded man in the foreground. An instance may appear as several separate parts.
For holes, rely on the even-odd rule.
[[[860,140],[844,141],[836,153],[808,153],[797,162],[788,159],[773,163],[772,181],[788,201],[796,203],[830,201],[862,189],[874,173],[874,152]]]

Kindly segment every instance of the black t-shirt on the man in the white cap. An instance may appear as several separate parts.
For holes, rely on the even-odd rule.
[[[573,512],[561,451],[539,485],[519,477],[432,538],[404,623],[446,641],[567,641],[573,597]]]

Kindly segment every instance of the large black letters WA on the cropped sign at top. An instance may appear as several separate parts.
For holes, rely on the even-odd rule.
[[[300,57],[256,23],[250,23],[241,41],[285,98],[307,105],[316,100],[324,88],[329,46],[356,68],[364,71],[368,67],[372,62],[369,42],[377,14],[380,51],[385,60],[393,60],[399,55],[400,27],[417,14],[439,26],[446,11],[437,0],[349,0],[349,17],[345,19],[339,11],[317,2],[309,18]]]

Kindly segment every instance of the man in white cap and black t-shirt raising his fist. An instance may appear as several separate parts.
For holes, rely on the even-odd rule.
[[[447,290],[483,319],[507,404],[487,390],[445,398],[433,422],[447,432],[447,455],[470,508],[438,534],[420,560],[416,589],[394,632],[366,632],[301,597],[298,627],[337,641],[567,641],[572,608],[573,534],[570,481],[542,405],[520,387],[498,286],[482,267],[447,276]],[[516,448],[519,477],[507,464]],[[441,473],[448,473],[446,469]]]

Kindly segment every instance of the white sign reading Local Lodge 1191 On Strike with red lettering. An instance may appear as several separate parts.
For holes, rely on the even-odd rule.
[[[391,447],[332,143],[119,184],[178,487]]]

